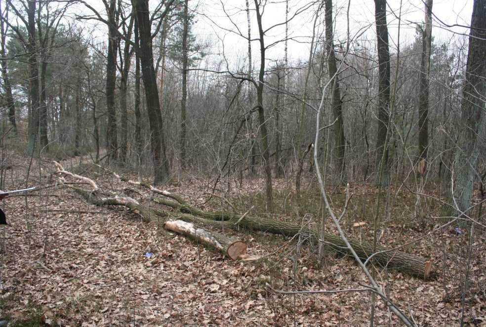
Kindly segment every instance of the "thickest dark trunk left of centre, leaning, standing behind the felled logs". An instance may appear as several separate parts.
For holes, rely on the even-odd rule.
[[[148,0],[132,0],[138,23],[139,43],[136,51],[140,57],[142,81],[150,123],[150,145],[154,163],[154,184],[161,184],[169,177],[169,163],[165,156],[162,113],[157,89],[157,77],[152,52],[152,34]]]

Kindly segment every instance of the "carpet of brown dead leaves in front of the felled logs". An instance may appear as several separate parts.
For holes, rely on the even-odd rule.
[[[347,258],[327,256],[318,267],[306,248],[297,250],[290,243],[277,249],[275,240],[270,245],[250,238],[250,253],[263,259],[231,262],[143,223],[134,214],[89,206],[68,189],[49,192],[6,200],[11,226],[0,231],[4,249],[0,320],[38,319],[66,326],[286,326],[294,321],[302,326],[365,326],[368,322],[366,293],[293,296],[265,288],[265,283],[285,290],[366,284],[360,269]],[[42,212],[49,209],[99,212]],[[394,239],[388,237],[390,242]],[[451,249],[461,242],[447,233],[435,239],[445,240]],[[484,236],[477,242],[484,242]],[[440,257],[438,249],[431,251]],[[153,255],[147,257],[148,252]],[[454,253],[445,259],[448,267],[457,266]],[[473,285],[466,313],[471,326],[486,322],[485,255],[478,253],[471,264]],[[393,272],[382,273],[378,282],[420,325],[449,326],[457,324],[461,315],[460,278],[454,280],[450,272],[447,276],[423,282]],[[398,324],[380,301],[375,317],[377,326]]]

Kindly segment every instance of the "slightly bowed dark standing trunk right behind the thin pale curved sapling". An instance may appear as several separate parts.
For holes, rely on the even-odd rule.
[[[339,79],[337,75],[336,55],[333,46],[333,32],[332,32],[332,0],[325,0],[325,47],[327,50],[327,71],[329,72],[329,79],[334,79],[332,85],[331,108],[334,114],[334,161],[336,168],[336,176],[338,176],[339,185],[346,185],[346,162],[345,150],[346,139],[344,138],[344,123],[343,123],[343,103],[341,101],[341,90],[339,88]]]

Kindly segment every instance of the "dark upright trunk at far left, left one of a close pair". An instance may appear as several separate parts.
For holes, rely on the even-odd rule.
[[[28,126],[28,144],[27,153],[35,156],[37,138],[39,135],[39,62],[37,60],[36,45],[36,1],[28,1],[27,7],[28,25],[27,33],[29,34],[27,42],[27,51],[29,51],[29,87],[30,87],[30,117]]]

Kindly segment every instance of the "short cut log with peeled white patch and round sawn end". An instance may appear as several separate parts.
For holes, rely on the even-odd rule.
[[[244,242],[198,228],[191,222],[167,220],[164,228],[185,235],[202,244],[209,245],[225,254],[231,260],[237,260],[240,255],[246,253],[246,244]]]

